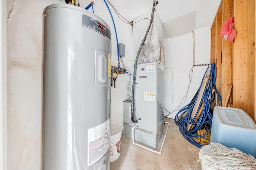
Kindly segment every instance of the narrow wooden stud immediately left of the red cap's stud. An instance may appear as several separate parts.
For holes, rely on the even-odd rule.
[[[222,54],[222,38],[220,37],[220,28],[222,26],[222,2],[215,18],[215,70],[216,70],[216,88],[221,94],[221,54]],[[221,106],[221,105],[220,105]]]

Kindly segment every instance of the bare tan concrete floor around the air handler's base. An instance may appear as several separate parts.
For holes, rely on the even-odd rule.
[[[173,119],[165,121],[170,126],[162,154],[135,146],[132,139],[122,135],[120,157],[110,163],[110,170],[200,170],[201,164],[196,162],[200,149],[186,141]]]

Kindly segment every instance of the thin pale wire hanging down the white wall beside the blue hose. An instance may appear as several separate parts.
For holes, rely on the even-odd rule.
[[[168,115],[170,115],[174,111],[177,111],[178,109],[180,109],[180,107],[183,106],[183,104],[186,102],[186,100],[188,98],[188,90],[189,90],[191,82],[192,82],[194,64],[195,64],[195,61],[196,61],[196,56],[195,56],[196,34],[194,33],[194,31],[192,31],[192,35],[193,35],[193,40],[194,40],[193,41],[193,63],[192,63],[192,67],[191,67],[190,72],[189,72],[189,84],[188,84],[186,95],[182,98],[180,104],[172,112],[169,112],[168,110],[165,109],[168,112],[168,114],[164,117],[167,117]],[[172,77],[172,80],[173,80],[173,77]],[[173,82],[172,82],[172,91],[173,91]],[[172,98],[173,98],[173,94],[172,94]],[[172,108],[173,108],[173,100],[172,100]]]

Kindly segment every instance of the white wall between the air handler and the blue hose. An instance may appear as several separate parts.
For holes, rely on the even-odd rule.
[[[210,63],[210,27],[194,31],[195,41],[195,64]],[[193,65],[193,44],[192,33],[165,39],[166,63],[164,72],[165,108],[173,112],[180,103],[181,107],[186,106],[194,97],[198,90],[207,66],[195,66],[192,74],[192,81],[188,90],[186,101],[182,102],[186,96],[189,85],[189,72]],[[179,107],[178,107],[179,108]],[[177,109],[168,117],[174,118]],[[165,111],[164,115],[168,112]]]

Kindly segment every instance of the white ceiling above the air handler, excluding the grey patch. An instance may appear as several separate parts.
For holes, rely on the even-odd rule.
[[[127,20],[151,12],[153,0],[110,0]],[[212,25],[221,0],[158,0],[156,12],[162,23],[196,12],[194,30]]]

